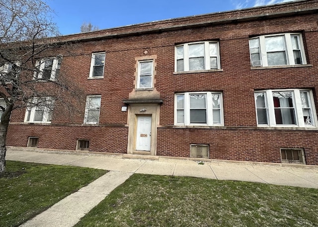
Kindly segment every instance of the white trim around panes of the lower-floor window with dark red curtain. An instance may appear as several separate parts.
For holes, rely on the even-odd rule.
[[[257,119],[257,108],[256,108],[256,93],[264,92],[265,96],[265,107],[267,113],[267,121],[268,124],[259,124]],[[293,106],[295,110],[295,118],[296,124],[276,124],[276,117],[275,117],[275,109],[274,109],[274,101],[273,101],[273,92],[292,92],[293,95]],[[308,92],[309,97],[309,105],[312,115],[312,125],[307,125],[304,122],[304,114],[303,114],[303,107],[300,92]],[[318,120],[315,108],[315,101],[313,96],[312,90],[306,89],[274,89],[274,90],[261,90],[254,92],[254,101],[255,101],[255,111],[256,111],[256,122],[257,126],[259,127],[317,127]]]

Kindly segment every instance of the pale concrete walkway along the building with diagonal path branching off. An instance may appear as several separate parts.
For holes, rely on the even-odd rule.
[[[137,157],[137,159],[136,159]],[[138,158],[152,158],[138,159]],[[136,155],[105,155],[9,147],[7,160],[109,170],[78,192],[61,200],[22,227],[72,227],[88,211],[132,174],[200,177],[218,180],[250,181],[265,184],[318,188],[318,166],[194,160]]]

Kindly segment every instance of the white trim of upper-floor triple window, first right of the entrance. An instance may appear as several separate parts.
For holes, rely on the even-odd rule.
[[[189,45],[191,44],[200,44],[204,43],[204,69],[199,71],[208,71],[211,70],[210,66],[210,43],[216,43],[217,44],[217,69],[212,70],[218,70],[221,69],[221,61],[220,61],[220,45],[218,41],[204,41],[204,42],[192,42],[192,43],[184,43],[181,45],[176,45],[174,48],[174,72],[196,72],[198,70],[189,70]],[[183,46],[183,71],[177,71],[177,48]],[[213,57],[213,56],[212,56]]]

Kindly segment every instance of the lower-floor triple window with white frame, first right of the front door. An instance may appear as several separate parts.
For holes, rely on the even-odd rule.
[[[223,125],[222,93],[188,92],[175,94],[176,125]]]

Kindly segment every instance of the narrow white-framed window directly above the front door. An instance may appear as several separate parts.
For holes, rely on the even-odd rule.
[[[137,88],[153,88],[154,61],[140,61]]]

